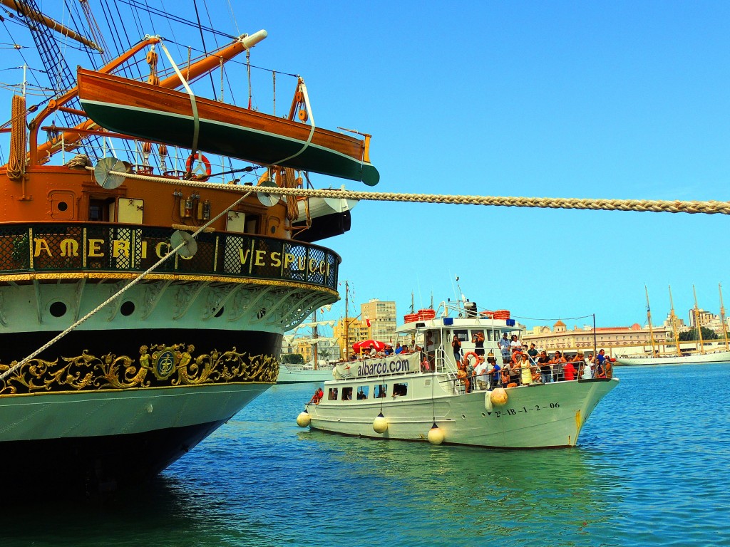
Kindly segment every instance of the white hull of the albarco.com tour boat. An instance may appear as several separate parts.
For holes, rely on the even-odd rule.
[[[450,395],[439,388],[431,396],[433,374],[415,374],[387,381],[409,384],[403,397],[369,400],[322,400],[307,405],[310,426],[315,430],[361,437],[428,441],[434,422],[444,434],[444,442],[494,448],[534,449],[575,446],[580,429],[599,401],[618,384],[610,381],[564,381],[556,384],[506,389],[504,406],[485,406],[490,392]],[[445,379],[442,374],[435,379]],[[386,380],[378,380],[386,381]],[[352,385],[337,381],[328,387]],[[372,389],[371,389],[372,392]],[[439,393],[440,392],[440,393]],[[412,394],[412,395],[411,395]],[[382,412],[388,429],[377,433],[373,420]]]

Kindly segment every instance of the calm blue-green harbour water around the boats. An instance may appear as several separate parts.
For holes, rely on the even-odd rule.
[[[277,386],[101,507],[3,492],[0,546],[730,546],[730,365],[617,373],[568,450],[310,432]]]

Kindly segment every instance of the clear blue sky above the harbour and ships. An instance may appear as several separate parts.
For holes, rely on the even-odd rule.
[[[318,125],[372,133],[374,190],[730,199],[730,4],[237,4],[240,32],[269,32],[252,63],[301,74]],[[225,10],[212,13],[236,32]],[[270,88],[268,75],[255,76],[254,101],[266,112]],[[277,79],[277,112],[292,90]],[[356,303],[396,300],[399,316],[412,291],[417,308],[431,293],[453,298],[458,275],[480,308],[550,319],[595,313],[599,326],[615,326],[645,322],[645,284],[656,322],[669,311],[668,285],[685,320],[693,284],[699,306],[717,313],[718,283],[730,299],[729,222],[363,202],[349,233],[321,243],[342,255],[340,279]]]

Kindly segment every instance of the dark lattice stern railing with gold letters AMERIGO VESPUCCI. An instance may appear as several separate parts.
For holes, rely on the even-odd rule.
[[[172,228],[107,222],[7,223],[0,226],[0,274],[139,273],[169,250],[172,233]],[[271,279],[337,290],[340,258],[325,247],[253,234],[201,233],[197,241],[193,257],[176,255],[156,273]],[[242,249],[257,249],[261,260]]]

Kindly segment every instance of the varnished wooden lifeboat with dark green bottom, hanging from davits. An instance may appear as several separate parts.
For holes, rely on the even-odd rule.
[[[264,165],[312,171],[374,186],[380,180],[365,140],[255,110],[194,97],[98,71],[78,69],[79,100],[110,131]],[[199,125],[194,143],[193,101]],[[310,136],[310,133],[311,136]]]

